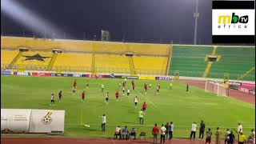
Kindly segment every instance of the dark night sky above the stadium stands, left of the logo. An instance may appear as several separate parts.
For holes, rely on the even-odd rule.
[[[2,2],[5,0],[1,0]],[[14,0],[12,0],[14,1]],[[196,0],[16,0],[27,10],[62,30],[55,38],[101,38],[109,30],[112,41],[194,42]],[[198,0],[198,44],[211,43],[211,0]],[[26,19],[26,18],[25,18]],[[32,37],[29,26],[15,21],[1,7],[1,33]],[[54,32],[54,31],[53,31]],[[42,35],[38,34],[38,37]],[[50,37],[50,36],[49,36]],[[200,39],[200,40],[199,40]]]

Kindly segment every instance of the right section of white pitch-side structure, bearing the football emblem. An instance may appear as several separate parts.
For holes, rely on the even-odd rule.
[[[64,110],[32,110],[30,133],[64,132]]]

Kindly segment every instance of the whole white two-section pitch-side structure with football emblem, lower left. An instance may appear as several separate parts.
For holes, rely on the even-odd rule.
[[[1,109],[1,133],[64,133],[65,110]]]

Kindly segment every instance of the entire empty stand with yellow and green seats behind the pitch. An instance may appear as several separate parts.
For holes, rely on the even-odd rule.
[[[26,47],[31,51],[18,52]],[[53,54],[53,49],[62,50]],[[36,52],[38,50],[38,52]],[[1,37],[1,68],[81,71],[120,74],[168,74],[178,70],[180,76],[255,80],[255,49],[253,46],[188,46],[127,42],[98,42],[62,39]],[[126,57],[133,53],[133,57]],[[44,61],[25,61],[24,55],[50,57]],[[207,62],[206,55],[218,57]],[[169,64],[170,58],[170,64]],[[5,66],[2,66],[5,65]],[[15,65],[15,66],[13,66]],[[26,66],[27,65],[27,66]],[[32,68],[31,68],[32,66]],[[167,70],[168,69],[168,70]]]

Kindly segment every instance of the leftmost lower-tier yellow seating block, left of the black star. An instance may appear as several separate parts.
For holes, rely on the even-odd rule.
[[[1,50],[1,64],[10,64],[17,54],[18,50]]]

